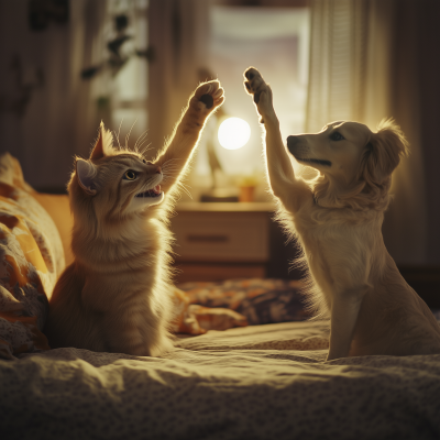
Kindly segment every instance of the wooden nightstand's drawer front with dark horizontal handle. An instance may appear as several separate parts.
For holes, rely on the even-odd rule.
[[[268,221],[265,212],[180,212],[172,221],[176,261],[265,262]]]

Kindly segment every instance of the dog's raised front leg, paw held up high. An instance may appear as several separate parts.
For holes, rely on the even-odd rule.
[[[250,67],[244,73],[244,87],[254,97],[266,135],[266,166],[272,191],[289,212],[295,212],[306,201],[312,200],[310,187],[295,176],[294,167],[279,132],[279,121],[272,102],[272,89],[260,72]]]

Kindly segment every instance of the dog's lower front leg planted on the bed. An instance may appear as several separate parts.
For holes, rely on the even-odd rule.
[[[331,304],[330,348],[327,361],[349,355],[363,299],[362,288],[337,293]]]

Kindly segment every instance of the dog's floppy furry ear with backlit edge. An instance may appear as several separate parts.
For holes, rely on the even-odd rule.
[[[400,128],[392,119],[383,120],[365,146],[362,178],[370,185],[383,185],[408,153],[408,141]]]

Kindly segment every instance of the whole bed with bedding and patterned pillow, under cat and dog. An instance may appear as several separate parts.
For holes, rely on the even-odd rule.
[[[1,439],[440,438],[440,355],[326,362],[327,322],[283,280],[180,286],[162,358],[50,350],[66,253],[38,197],[0,158]]]

